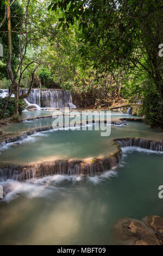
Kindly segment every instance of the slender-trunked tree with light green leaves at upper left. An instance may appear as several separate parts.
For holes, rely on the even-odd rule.
[[[15,31],[12,31],[12,19],[15,16],[11,15],[11,6],[12,4],[18,3],[18,7],[22,8],[21,17],[19,16],[19,20],[17,26],[15,26]],[[14,92],[15,94],[15,112],[14,119],[18,118],[18,99],[24,99],[28,97],[30,90],[32,89],[34,83],[34,74],[39,65],[43,63],[42,52],[45,51],[43,48],[43,44],[45,44],[47,36],[53,36],[55,32],[55,28],[50,26],[51,16],[45,12],[45,2],[39,3],[33,0],[22,0],[22,1],[4,1],[4,19],[3,25],[6,26],[7,23],[7,32],[0,31],[1,33],[8,34],[8,62],[7,62],[7,70],[11,81],[11,86],[9,88],[9,96],[5,103],[3,112],[1,114],[1,118],[5,113],[5,109],[8,106],[9,99],[11,94]],[[20,5],[19,5],[20,4]],[[16,5],[15,5],[16,7]],[[15,11],[18,13],[20,9],[16,9]],[[7,12],[7,15],[6,15]],[[17,15],[17,14],[16,14]],[[6,17],[7,16],[7,17]],[[43,16],[43,19],[42,19]],[[48,29],[47,29],[48,28]],[[18,34],[18,54],[17,54],[17,65],[12,65],[13,60],[13,44],[12,34]],[[32,51],[31,51],[32,50]],[[21,82],[24,74],[30,72],[31,79],[29,84],[29,89],[27,92],[22,91],[20,94]]]

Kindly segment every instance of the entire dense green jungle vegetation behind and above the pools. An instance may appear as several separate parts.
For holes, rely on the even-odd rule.
[[[1,118],[13,92],[16,119],[32,88],[61,88],[103,107],[141,100],[146,121],[163,127],[162,24],[160,0],[2,0]]]

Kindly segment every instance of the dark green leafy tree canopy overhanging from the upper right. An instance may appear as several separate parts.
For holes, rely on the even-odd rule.
[[[58,8],[62,10],[59,26],[63,31],[79,21],[85,44],[81,54],[92,58],[97,72],[123,68],[147,74],[144,77],[156,88],[155,97],[161,102],[158,112],[163,123],[163,58],[158,54],[163,42],[163,1],[54,0],[49,5],[54,11]]]

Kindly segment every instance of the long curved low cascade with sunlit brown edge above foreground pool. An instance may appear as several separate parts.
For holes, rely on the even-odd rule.
[[[18,181],[40,178],[42,176],[54,174],[66,175],[96,175],[109,170],[121,161],[121,150],[110,157],[101,160],[58,160],[53,162],[42,162],[29,166],[18,166],[4,164],[0,166],[0,181],[14,179]]]

